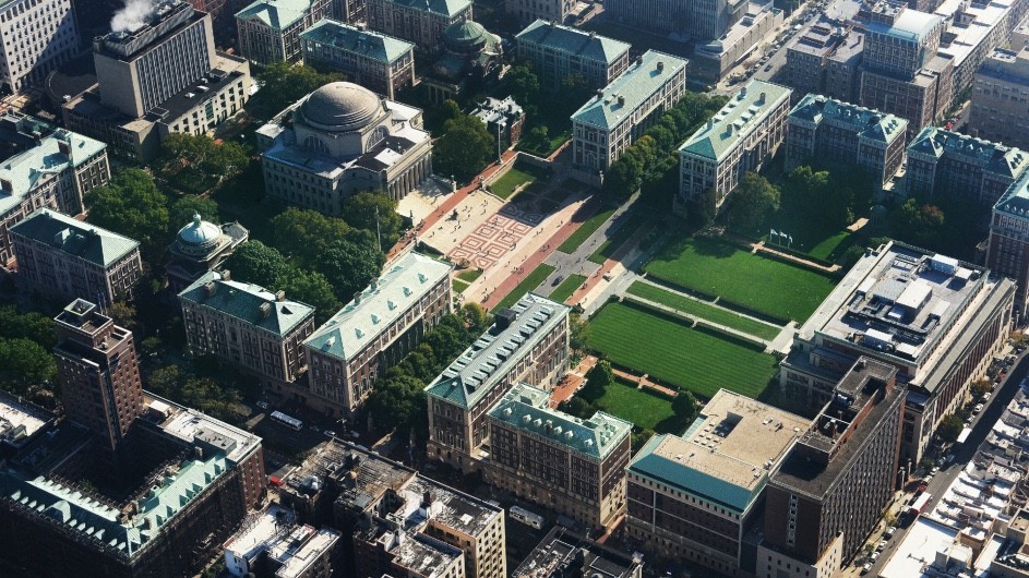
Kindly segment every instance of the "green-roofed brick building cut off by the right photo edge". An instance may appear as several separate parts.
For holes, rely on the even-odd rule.
[[[1022,325],[1029,313],[1029,172],[993,206],[986,266],[1014,279],[1016,325]]]

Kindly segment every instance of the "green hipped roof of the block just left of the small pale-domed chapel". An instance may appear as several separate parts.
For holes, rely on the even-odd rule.
[[[46,243],[105,268],[140,246],[140,243],[128,237],[48,208],[40,208],[25,217],[25,220],[11,227],[11,233]]]

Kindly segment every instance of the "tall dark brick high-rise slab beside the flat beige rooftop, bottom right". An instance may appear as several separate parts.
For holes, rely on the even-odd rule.
[[[768,477],[758,578],[830,578],[864,544],[897,487],[905,387],[859,358]]]

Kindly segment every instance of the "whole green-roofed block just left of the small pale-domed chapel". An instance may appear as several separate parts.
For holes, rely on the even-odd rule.
[[[49,208],[9,231],[17,282],[29,294],[109,306],[132,294],[143,275],[140,243]]]

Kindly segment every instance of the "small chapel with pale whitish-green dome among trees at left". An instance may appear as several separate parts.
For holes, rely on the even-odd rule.
[[[238,222],[219,226],[193,215],[168,248],[170,258],[165,272],[169,287],[178,293],[208,270],[220,269],[222,263],[249,238],[250,231]]]

